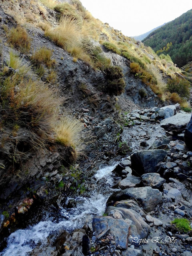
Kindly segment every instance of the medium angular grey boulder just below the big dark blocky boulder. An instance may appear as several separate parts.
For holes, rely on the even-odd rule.
[[[155,172],[143,174],[141,179],[144,186],[150,186],[152,188],[160,188],[162,184],[166,182],[166,180],[162,178],[160,174]]]

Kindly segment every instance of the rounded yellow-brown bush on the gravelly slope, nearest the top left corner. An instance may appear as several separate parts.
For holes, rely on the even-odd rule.
[[[8,42],[12,44],[17,50],[22,53],[26,53],[30,50],[31,38],[28,36],[26,30],[21,26],[12,28],[7,33]]]

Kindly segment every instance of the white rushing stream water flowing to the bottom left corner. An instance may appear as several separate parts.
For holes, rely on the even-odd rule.
[[[78,202],[76,208],[66,210],[60,207],[60,214],[65,217],[65,220],[59,223],[50,220],[41,221],[24,230],[20,229],[13,232],[8,237],[7,247],[0,253],[0,256],[26,256],[27,252],[31,252],[37,244],[45,245],[46,237],[51,232],[61,229],[71,231],[75,228],[82,228],[85,223],[92,220],[94,215],[102,215],[105,211],[106,201],[114,191],[111,189],[113,185],[112,170],[117,164],[101,168],[95,174],[96,181],[105,179],[105,186],[103,186],[105,189],[100,190],[98,187],[92,191],[89,198],[83,196],[74,198]],[[68,200],[70,199],[72,198],[68,198]]]

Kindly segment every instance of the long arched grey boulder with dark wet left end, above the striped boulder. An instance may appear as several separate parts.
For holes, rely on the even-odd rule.
[[[150,212],[162,200],[162,193],[158,189],[151,187],[127,188],[112,194],[106,203],[106,206],[113,206],[115,202],[134,198],[143,207],[146,212]]]

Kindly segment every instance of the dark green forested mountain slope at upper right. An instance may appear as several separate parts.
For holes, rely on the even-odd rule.
[[[192,61],[192,10],[150,33],[142,40],[157,54],[169,54],[179,67]]]

